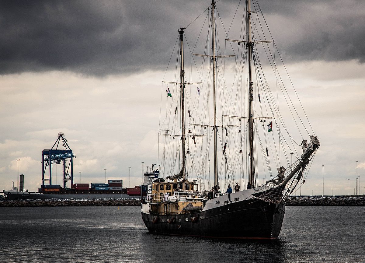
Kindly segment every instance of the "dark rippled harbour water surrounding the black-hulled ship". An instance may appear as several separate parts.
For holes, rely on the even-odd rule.
[[[3,207],[0,262],[364,262],[364,213],[289,206],[280,239],[252,241],[153,235],[139,207]]]

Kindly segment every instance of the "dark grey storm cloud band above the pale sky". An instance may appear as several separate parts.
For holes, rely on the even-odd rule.
[[[220,16],[233,14],[236,5],[219,1]],[[0,1],[0,73],[105,76],[164,69],[177,28],[208,6],[209,1]],[[364,1],[266,0],[260,6],[279,32],[275,40],[285,56],[365,61]]]

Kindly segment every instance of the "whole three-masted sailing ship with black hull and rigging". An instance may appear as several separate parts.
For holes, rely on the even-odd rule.
[[[285,200],[305,182],[320,145],[297,92],[284,85],[279,69],[287,70],[260,5],[251,0],[238,5],[232,12],[238,22],[233,18],[230,26],[218,22],[222,15],[216,15],[212,0],[189,28],[178,30],[176,71],[166,71],[176,78],[163,81],[167,94],[162,97],[166,118],[160,118],[161,167],[151,176],[141,203],[151,233],[276,239]],[[185,68],[185,31],[200,20],[203,27],[191,30],[200,34],[188,43]],[[230,33],[231,28],[238,30]],[[201,37],[203,32],[208,34]],[[237,39],[228,37],[240,32]],[[200,48],[204,52],[195,53]],[[295,128],[292,133],[290,127]]]

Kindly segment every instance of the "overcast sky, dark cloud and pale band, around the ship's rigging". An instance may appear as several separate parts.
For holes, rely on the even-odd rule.
[[[216,4],[226,25],[237,4]],[[128,186],[131,167],[131,186],[140,184],[141,162],[157,163],[161,81],[177,30],[209,5],[1,0],[0,189],[16,182],[20,159],[25,188],[37,190],[42,150],[59,132],[77,156],[76,182],[79,171],[82,182],[104,182],[107,169],[107,179]],[[302,193],[322,194],[322,164],[325,194],[347,194],[346,178],[353,193],[356,160],[365,193],[365,1],[266,0],[260,7],[321,141]]]

